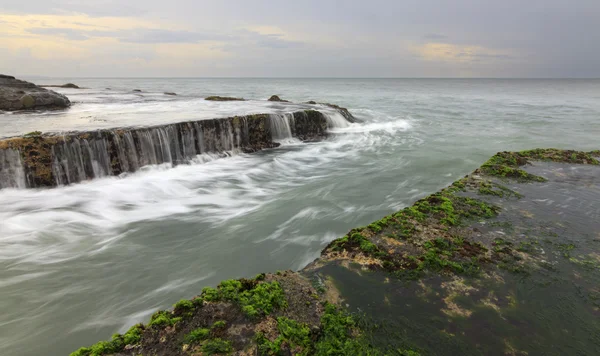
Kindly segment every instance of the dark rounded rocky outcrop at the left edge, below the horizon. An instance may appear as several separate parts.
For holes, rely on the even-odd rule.
[[[69,99],[62,94],[15,77],[0,75],[0,110],[64,109],[70,105]]]

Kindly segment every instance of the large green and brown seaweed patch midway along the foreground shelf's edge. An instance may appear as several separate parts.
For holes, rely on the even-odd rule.
[[[476,275],[487,249],[467,241],[460,231],[454,236],[449,231],[473,220],[493,218],[499,208],[455,194],[471,187],[470,182],[468,177],[464,178],[458,185],[421,199],[366,228],[352,229],[333,241],[324,253],[348,251],[353,257],[353,252],[360,252],[375,259],[364,261],[373,268],[382,267],[400,278],[416,279],[428,271]],[[399,250],[394,244],[382,247],[381,244],[389,244],[385,238],[406,241],[413,247]]]

